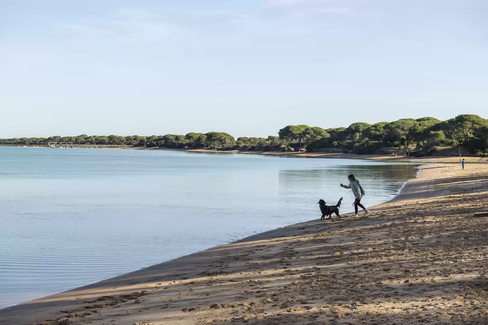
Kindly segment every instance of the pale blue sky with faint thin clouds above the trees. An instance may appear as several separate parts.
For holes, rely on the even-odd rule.
[[[486,0],[0,0],[0,137],[488,118]]]

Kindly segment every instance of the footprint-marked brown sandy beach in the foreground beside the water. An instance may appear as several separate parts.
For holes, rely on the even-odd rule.
[[[257,234],[2,309],[0,323],[486,324],[480,211],[488,165],[424,165],[367,217]]]

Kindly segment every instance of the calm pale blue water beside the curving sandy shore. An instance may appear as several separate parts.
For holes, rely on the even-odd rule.
[[[0,307],[392,198],[407,164],[171,151],[0,147]]]

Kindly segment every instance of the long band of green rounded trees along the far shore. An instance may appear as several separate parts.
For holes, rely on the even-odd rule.
[[[462,146],[471,154],[488,155],[488,120],[463,114],[447,121],[434,117],[403,118],[393,122],[357,122],[348,127],[323,129],[288,125],[278,136],[239,137],[223,132],[166,135],[51,136],[48,138],[0,139],[0,145],[45,145],[47,142],[111,144],[172,149],[225,149],[248,151],[326,151],[387,153],[391,148],[416,154],[432,153],[446,147]]]

